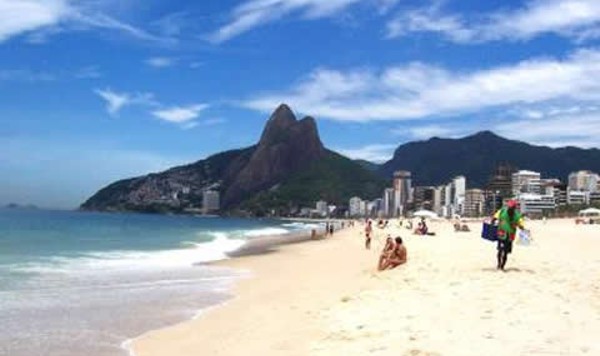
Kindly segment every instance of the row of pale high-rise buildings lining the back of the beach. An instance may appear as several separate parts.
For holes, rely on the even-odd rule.
[[[600,204],[600,177],[594,172],[578,171],[563,183],[556,178],[543,178],[539,172],[502,164],[484,189],[467,189],[464,176],[439,186],[413,186],[411,172],[398,171],[382,198],[351,198],[348,215],[392,218],[427,209],[442,217],[477,217],[491,214],[509,198],[517,199],[521,210],[530,215],[549,215],[561,206]]]

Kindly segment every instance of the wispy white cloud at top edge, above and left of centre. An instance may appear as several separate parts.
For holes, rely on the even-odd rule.
[[[209,40],[221,43],[252,28],[297,12],[303,18],[331,16],[360,0],[247,0],[233,9],[231,21],[209,35]],[[379,0],[381,2],[381,0]],[[389,0],[388,0],[389,2]]]

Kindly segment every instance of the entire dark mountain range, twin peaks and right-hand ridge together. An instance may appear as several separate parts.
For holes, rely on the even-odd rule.
[[[393,172],[412,172],[414,185],[447,183],[465,175],[469,187],[485,187],[498,163],[565,180],[572,171],[600,172],[600,150],[532,146],[489,131],[460,139],[431,138],[399,146],[377,165],[353,161],[323,146],[315,120],[297,120],[282,104],[258,144],[210,156],[161,173],[121,180],[98,191],[84,210],[184,212],[202,206],[202,193],[220,192],[223,212],[288,214],[319,199],[347,205],[352,196],[381,197]]]

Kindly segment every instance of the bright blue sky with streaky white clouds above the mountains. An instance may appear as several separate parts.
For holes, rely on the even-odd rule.
[[[598,0],[0,0],[0,204],[254,144],[287,103],[383,162],[492,130],[600,147]]]

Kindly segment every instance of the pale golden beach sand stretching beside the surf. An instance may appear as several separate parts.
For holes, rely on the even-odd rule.
[[[235,297],[202,317],[134,340],[137,356],[600,355],[600,226],[529,224],[507,271],[495,244],[448,222],[436,236],[362,226],[333,238],[220,263],[249,270]],[[376,272],[386,233],[408,263]]]

